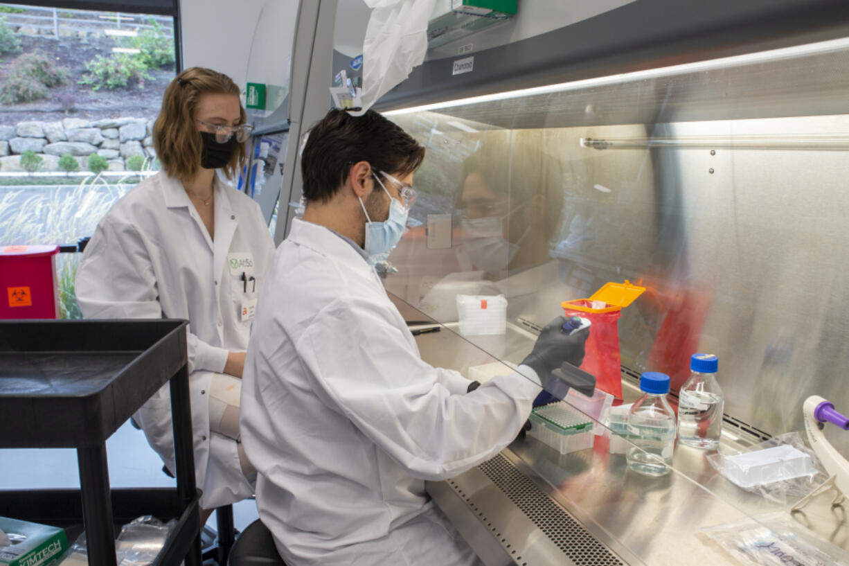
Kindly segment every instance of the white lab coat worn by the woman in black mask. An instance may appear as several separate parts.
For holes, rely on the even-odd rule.
[[[194,467],[206,509],[253,495],[236,441],[210,433],[208,397],[212,374],[223,371],[228,352],[247,349],[250,320],[242,320],[240,309],[256,299],[274,253],[256,202],[217,176],[214,190],[215,241],[179,180],[157,173],[139,183],[100,221],[76,275],[87,319],[188,320]],[[243,261],[231,269],[231,259]],[[250,269],[256,291],[250,281],[245,292],[241,274]],[[173,473],[167,384],[135,420]]]

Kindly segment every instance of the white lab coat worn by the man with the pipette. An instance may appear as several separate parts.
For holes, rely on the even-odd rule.
[[[466,393],[457,371],[424,363],[374,269],[317,224],[295,220],[259,304],[241,432],[286,563],[478,563],[424,480],[495,456],[541,389],[514,373]]]

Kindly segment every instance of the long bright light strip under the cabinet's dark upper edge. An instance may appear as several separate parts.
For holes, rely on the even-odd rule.
[[[440,110],[442,108],[454,108],[457,106],[476,105],[484,102],[492,102],[494,100],[518,99],[528,96],[537,96],[539,94],[568,92],[580,88],[598,87],[609,84],[620,84],[621,82],[627,81],[638,81],[649,78],[659,78],[661,76],[679,75],[690,71],[711,71],[714,69],[724,69],[729,66],[743,65],[746,63],[758,63],[776,59],[790,59],[793,57],[801,57],[812,54],[824,54],[829,51],[840,51],[846,48],[849,48],[849,37],[832,39],[825,42],[808,43],[807,45],[797,45],[790,48],[772,49],[770,51],[762,51],[752,54],[733,55],[731,57],[723,57],[722,59],[711,59],[709,61],[698,61],[696,63],[684,63],[683,65],[672,65],[669,67],[661,67],[659,69],[647,69],[645,71],[633,71],[629,73],[620,73],[618,75],[599,76],[596,78],[582,79],[581,81],[561,82],[559,84],[552,84],[544,87],[522,88],[520,90],[510,90],[503,93],[473,96],[467,99],[447,100],[445,102],[437,102],[431,105],[411,106],[410,108],[389,110],[384,112],[384,115],[398,116],[401,114],[409,114],[411,112],[423,112],[427,110]]]

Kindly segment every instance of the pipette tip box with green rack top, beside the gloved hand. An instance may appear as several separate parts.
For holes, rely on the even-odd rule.
[[[560,454],[593,447],[593,421],[563,401],[531,411],[528,435],[548,444]]]

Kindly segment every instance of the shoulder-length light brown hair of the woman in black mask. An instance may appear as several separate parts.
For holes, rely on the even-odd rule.
[[[154,148],[169,177],[181,181],[194,178],[200,169],[200,131],[194,123],[198,102],[204,94],[233,94],[239,97],[239,87],[229,76],[203,67],[191,67],[177,75],[165,89],[162,110],[154,123]],[[239,103],[241,123],[245,123],[245,108]],[[233,158],[223,167],[228,178],[245,167],[245,145],[239,144]]]

